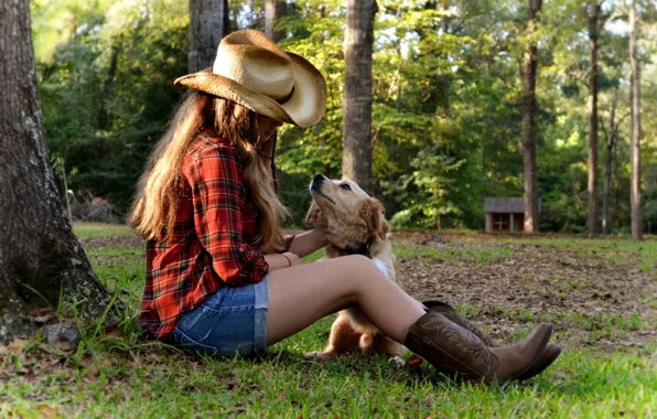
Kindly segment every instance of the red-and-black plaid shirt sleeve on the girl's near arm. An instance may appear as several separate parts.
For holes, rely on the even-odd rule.
[[[215,272],[230,286],[260,282],[269,265],[241,236],[247,191],[237,152],[229,146],[207,147],[187,157],[183,174],[192,186],[196,235]]]

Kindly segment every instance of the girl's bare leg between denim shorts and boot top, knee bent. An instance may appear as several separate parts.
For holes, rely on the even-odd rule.
[[[268,273],[267,344],[338,310],[357,305],[386,335],[403,343],[422,305],[364,256],[345,256]]]

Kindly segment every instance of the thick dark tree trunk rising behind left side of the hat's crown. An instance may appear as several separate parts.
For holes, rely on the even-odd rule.
[[[228,10],[228,0],[190,0],[190,73],[214,63],[219,42],[229,32]]]

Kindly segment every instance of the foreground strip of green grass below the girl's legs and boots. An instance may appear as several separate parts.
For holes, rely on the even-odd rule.
[[[651,417],[657,407],[655,365],[637,354],[567,351],[529,385],[473,386],[428,366],[400,370],[383,358],[303,362],[299,353],[321,347],[327,326],[320,322],[258,359],[152,347],[129,355],[98,345],[96,358],[66,374],[0,382],[0,415],[599,418]]]

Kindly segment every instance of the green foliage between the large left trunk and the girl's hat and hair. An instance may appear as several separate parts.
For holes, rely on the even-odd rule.
[[[186,22],[186,7],[168,1],[106,4],[80,15],[51,60],[41,57],[46,141],[65,158],[75,193],[129,204],[179,100],[180,90],[162,87],[185,73]]]

